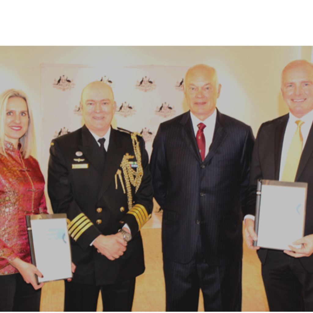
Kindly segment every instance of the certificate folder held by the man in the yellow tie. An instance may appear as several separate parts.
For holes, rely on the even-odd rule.
[[[288,245],[303,237],[307,187],[306,182],[259,180],[254,246],[290,250]]]

